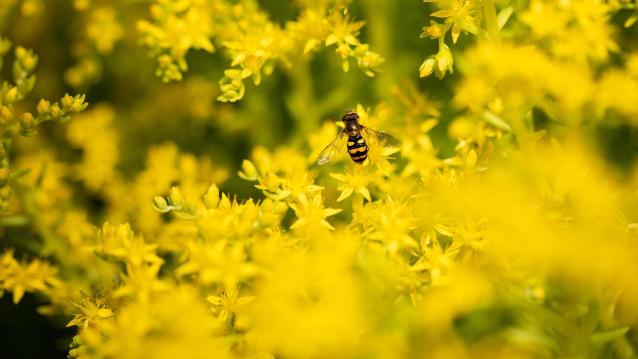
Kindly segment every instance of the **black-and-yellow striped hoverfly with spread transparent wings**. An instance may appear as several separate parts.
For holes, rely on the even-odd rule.
[[[382,147],[396,147],[399,146],[399,141],[389,134],[373,130],[367,126],[359,123],[359,115],[355,112],[348,111],[343,116],[343,131],[337,135],[337,137],[330,142],[326,148],[321,151],[317,158],[318,164],[325,164],[329,160],[332,160],[336,155],[341,153],[346,147],[348,142],[348,153],[352,160],[357,164],[362,164],[367,158],[367,143],[362,137],[362,133],[368,137],[375,145]],[[344,141],[348,135],[348,141]]]

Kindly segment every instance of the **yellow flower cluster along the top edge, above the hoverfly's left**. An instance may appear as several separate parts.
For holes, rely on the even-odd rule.
[[[296,55],[300,49],[306,55],[322,43],[336,45],[346,72],[350,58],[368,76],[379,71],[384,60],[358,40],[364,22],[347,15],[344,1],[311,1],[300,7],[299,19],[281,27],[255,1],[158,1],[151,6],[153,21],[140,20],[137,28],[140,42],[157,58],[156,75],[164,82],[182,80],[189,50],[214,52],[213,42],[226,49],[232,62],[219,80],[222,102],[244,96],[244,79],[251,77],[258,85],[262,72],[269,75],[276,61],[290,68],[303,61]]]

